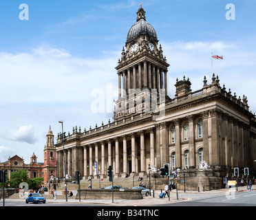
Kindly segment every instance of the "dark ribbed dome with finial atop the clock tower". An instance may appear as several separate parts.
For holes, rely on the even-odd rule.
[[[127,42],[136,39],[140,34],[149,34],[149,36],[153,37],[153,39],[158,39],[156,30],[150,23],[146,21],[145,14],[146,12],[140,3],[140,8],[137,12],[137,22],[132,25],[131,29],[129,30],[127,34]]]

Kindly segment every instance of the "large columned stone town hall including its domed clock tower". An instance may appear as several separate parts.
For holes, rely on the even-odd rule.
[[[84,131],[75,126],[64,151],[58,134],[58,177],[74,177],[76,170],[83,179],[106,177],[110,165],[114,178],[147,178],[149,170],[158,177],[163,164],[170,164],[171,171],[180,168],[188,189],[208,190],[222,188],[235,167],[239,177],[245,167],[255,173],[256,118],[246,96],[231,94],[213,74],[202,78],[198,91],[191,91],[189,78],[177,79],[175,97],[169,97],[169,64],[141,5],[125,47],[116,67],[113,121]]]

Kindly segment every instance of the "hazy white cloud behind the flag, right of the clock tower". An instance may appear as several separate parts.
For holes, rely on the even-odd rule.
[[[175,41],[162,43],[169,67],[169,91],[175,94],[175,80],[190,78],[192,90],[202,89],[204,76],[211,83],[211,53],[224,56],[213,60],[213,72],[220,78],[220,85],[231,88],[232,94],[247,96],[250,110],[256,111],[254,99],[255,52],[251,41]]]

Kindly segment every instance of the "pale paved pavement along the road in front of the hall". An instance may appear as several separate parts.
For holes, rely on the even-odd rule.
[[[47,199],[47,203],[88,203],[88,204],[98,204],[98,205],[103,205],[103,206],[156,206],[156,205],[161,205],[165,203],[176,203],[176,202],[181,202],[181,201],[189,201],[189,200],[195,200],[195,199],[205,199],[209,197],[216,197],[216,196],[223,196],[226,195],[226,191],[228,189],[220,189],[220,190],[211,190],[211,191],[190,191],[186,190],[179,190],[178,191],[178,198],[177,198],[177,192],[176,190],[172,190],[170,193],[170,201],[169,197],[165,198],[160,198],[160,190],[157,190],[154,192],[154,197],[153,193],[151,193],[151,196],[145,197],[143,196],[143,199],[138,199],[138,200],[125,200],[125,199],[114,199],[114,203],[112,203],[111,199],[75,199],[75,195],[77,191],[73,191],[74,196],[72,198],[67,198],[63,199],[63,196],[58,199],[58,195],[61,195],[61,191],[57,191],[57,197],[56,200],[54,198],[52,199]],[[255,188],[253,188],[255,190]],[[238,192],[243,192],[246,191],[246,186],[244,187],[238,187]],[[47,194],[46,192],[45,194]],[[24,201],[24,199],[8,199],[8,200],[13,200],[13,201]]]

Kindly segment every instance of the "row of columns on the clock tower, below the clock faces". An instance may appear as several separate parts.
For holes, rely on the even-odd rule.
[[[167,96],[167,69],[164,69],[151,62],[143,61],[122,72],[118,72],[118,98],[129,94],[129,89],[165,89]],[[122,76],[122,82],[121,82]]]

